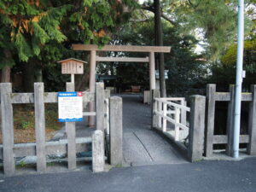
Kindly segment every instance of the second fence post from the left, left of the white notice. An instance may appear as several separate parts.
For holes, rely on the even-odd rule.
[[[35,129],[37,149],[37,171],[46,171],[44,83],[34,83]]]

